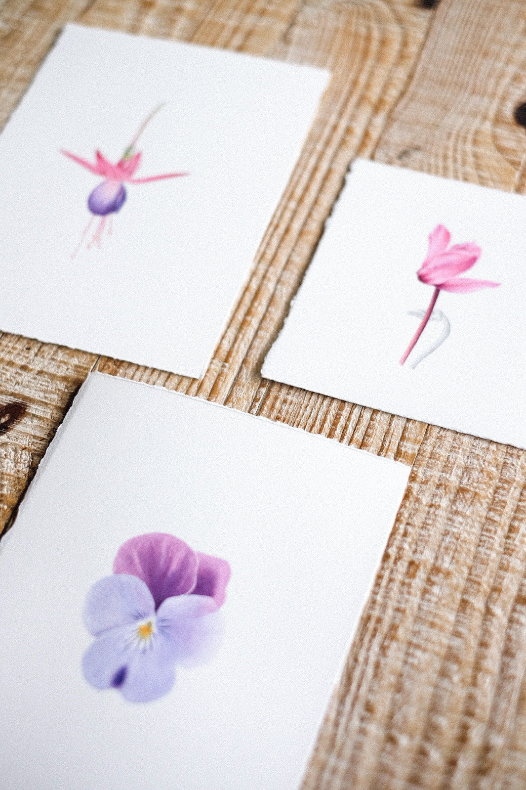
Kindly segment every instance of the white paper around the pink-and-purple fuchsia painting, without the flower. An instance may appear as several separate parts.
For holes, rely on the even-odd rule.
[[[328,79],[67,26],[0,136],[2,329],[200,376]],[[61,149],[90,163],[100,149],[115,164],[160,103],[134,177],[189,175],[125,183],[88,250],[102,219],[88,195],[105,179]]]

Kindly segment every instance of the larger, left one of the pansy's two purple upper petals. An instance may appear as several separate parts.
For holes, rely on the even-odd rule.
[[[197,555],[173,535],[149,532],[122,544],[113,572],[142,579],[159,608],[166,598],[192,592],[197,580]]]

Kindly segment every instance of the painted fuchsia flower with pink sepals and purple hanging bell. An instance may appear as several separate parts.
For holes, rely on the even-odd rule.
[[[90,228],[92,227],[93,220],[95,220],[97,216],[100,217],[100,220],[97,224],[94,234],[92,235],[92,239],[88,243],[88,249],[90,249],[93,244],[102,246],[102,237],[105,228],[107,228],[108,234],[111,235],[111,214],[120,211],[124,201],[126,201],[126,189],[124,186],[125,183],[147,184],[152,181],[177,179],[182,175],[189,175],[188,173],[163,173],[162,175],[148,175],[146,178],[142,179],[133,178],[135,172],[141,164],[142,159],[142,152],[136,151],[139,137],[141,137],[141,134],[144,132],[146,126],[148,126],[148,123],[162,107],[163,104],[160,104],[158,107],[156,107],[155,110],[153,110],[148,115],[148,118],[146,118],[145,121],[141,123],[141,126],[137,130],[137,134],[135,134],[133,137],[130,145],[126,147],[125,152],[122,154],[122,157],[120,160],[118,160],[117,164],[111,164],[111,162],[108,161],[106,157],[103,156],[103,154],[98,150],[95,153],[95,163],[92,164],[91,162],[88,162],[88,160],[82,159],[81,156],[77,156],[74,153],[70,153],[69,151],[62,149],[61,153],[63,153],[64,156],[68,156],[71,160],[73,160],[73,162],[77,162],[77,164],[80,164],[81,167],[85,167],[86,170],[90,171],[94,175],[103,176],[104,179],[103,182],[101,182],[95,187],[94,190],[92,190],[88,197],[88,209],[92,213],[92,217],[89,220],[84,233],[82,234],[81,242],[71,256],[72,258],[75,258],[81,249],[81,246],[84,243]]]

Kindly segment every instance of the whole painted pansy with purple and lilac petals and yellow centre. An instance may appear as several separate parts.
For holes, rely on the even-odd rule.
[[[96,638],[82,669],[96,689],[118,689],[129,702],[151,702],[174,685],[176,665],[212,658],[231,569],[179,538],[150,532],[118,549],[113,575],[92,586],[84,623]]]

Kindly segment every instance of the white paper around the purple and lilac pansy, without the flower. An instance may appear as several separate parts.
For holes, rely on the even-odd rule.
[[[92,374],[0,543],[6,790],[293,790],[408,468]],[[224,638],[156,702],[86,683],[81,615],[131,536],[227,559]]]

